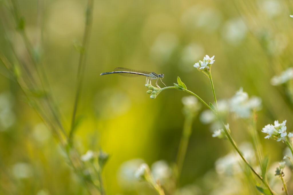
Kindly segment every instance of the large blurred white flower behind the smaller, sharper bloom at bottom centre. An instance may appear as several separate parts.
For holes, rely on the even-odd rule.
[[[139,184],[139,180],[135,177],[135,172],[139,166],[144,163],[140,158],[125,161],[120,165],[117,171],[117,182],[119,186],[125,190],[133,190]]]

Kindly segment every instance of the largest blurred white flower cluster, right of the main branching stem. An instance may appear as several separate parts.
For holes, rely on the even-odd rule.
[[[248,98],[248,94],[243,92],[241,87],[239,91],[230,99],[230,110],[239,118],[249,118],[253,110],[260,110],[261,99],[259,97]]]

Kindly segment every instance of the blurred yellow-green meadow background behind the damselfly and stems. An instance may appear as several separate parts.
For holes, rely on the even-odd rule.
[[[68,133],[79,60],[75,46],[82,40],[86,1],[18,4]],[[16,56],[27,63],[11,7],[10,1],[0,0],[0,52],[11,63],[17,63]],[[217,98],[228,99],[243,87],[250,96],[262,99],[262,110],[257,113],[259,132],[268,123],[285,119],[291,131],[291,102],[284,87],[272,86],[270,79],[292,66],[292,8],[292,2],[285,0],[94,1],[77,109],[83,120],[74,145],[81,154],[100,148],[109,153],[103,170],[107,194],[155,194],[147,186],[142,190],[123,186],[120,165],[136,158],[149,165],[158,160],[174,163],[184,121],[181,98],[188,94],[170,89],[153,100],[146,94],[144,77],[100,73],[116,67],[153,71],[165,75],[167,86],[173,86],[179,76],[190,91],[213,102],[209,80],[193,64],[206,54],[215,55],[212,75]],[[0,192],[86,194],[51,132],[1,62],[0,73],[0,110],[6,109],[0,114]],[[245,120],[231,117],[229,123],[237,143],[250,141]],[[202,181],[214,170],[215,161],[231,151],[228,142],[211,135],[209,125],[196,117],[179,187]],[[284,144],[264,140],[264,136],[260,132],[270,163],[281,161]],[[26,171],[17,177],[18,169]]]

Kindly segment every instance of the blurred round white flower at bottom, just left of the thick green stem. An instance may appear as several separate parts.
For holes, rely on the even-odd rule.
[[[163,160],[156,161],[151,165],[151,173],[154,180],[160,180],[161,184],[164,184],[172,175],[168,163]]]

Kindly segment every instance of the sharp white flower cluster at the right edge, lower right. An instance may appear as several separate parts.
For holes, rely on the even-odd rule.
[[[261,132],[268,134],[265,136],[265,139],[275,139],[277,141],[286,141],[286,136],[289,138],[293,137],[293,133],[289,132],[287,135],[287,127],[286,127],[287,120],[284,120],[282,123],[279,123],[278,120],[275,120],[274,125],[268,124],[263,127]]]

